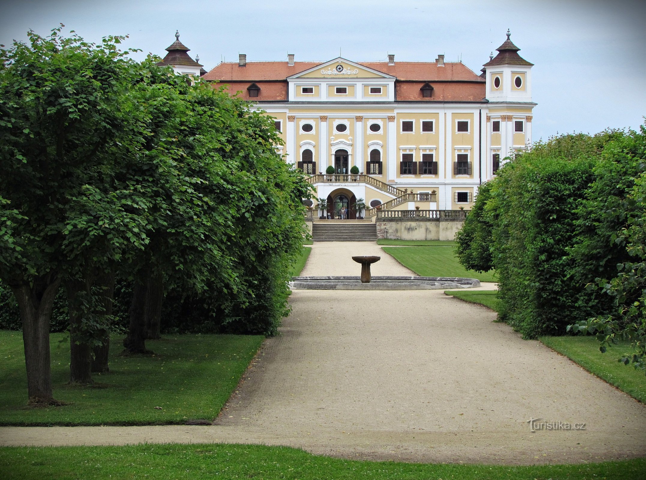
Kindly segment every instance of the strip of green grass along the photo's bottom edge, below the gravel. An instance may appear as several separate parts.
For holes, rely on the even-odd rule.
[[[646,459],[536,466],[421,464],[335,459],[284,446],[140,444],[3,447],[0,470],[12,480],[643,480]]]

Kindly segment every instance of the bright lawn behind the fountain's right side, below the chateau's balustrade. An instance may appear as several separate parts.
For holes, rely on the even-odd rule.
[[[383,247],[383,251],[422,277],[468,277],[495,282],[492,272],[477,273],[459,264],[453,247]]]

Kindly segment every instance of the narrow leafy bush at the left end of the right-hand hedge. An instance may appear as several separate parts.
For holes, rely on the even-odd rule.
[[[478,272],[490,271],[492,263],[492,222],[488,219],[486,204],[491,198],[490,183],[478,189],[474,207],[464,220],[463,227],[455,234],[455,255],[467,269]]]

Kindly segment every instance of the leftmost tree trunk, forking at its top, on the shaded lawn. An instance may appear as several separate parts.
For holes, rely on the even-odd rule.
[[[27,395],[31,405],[57,405],[52,394],[49,324],[54,298],[61,281],[52,273],[27,282],[10,285],[23,323]]]

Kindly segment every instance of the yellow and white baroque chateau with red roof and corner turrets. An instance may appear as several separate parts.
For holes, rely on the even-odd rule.
[[[240,54],[207,72],[179,34],[166,50],[160,65],[218,83],[275,118],[284,140],[276,148],[309,176],[313,204],[327,200],[328,218],[342,207],[349,220],[468,210],[479,185],[532,141],[533,64],[509,31],[481,74],[444,55],[317,62]]]

